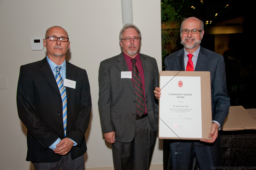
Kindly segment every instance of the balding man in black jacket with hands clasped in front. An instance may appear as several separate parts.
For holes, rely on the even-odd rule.
[[[20,67],[17,108],[27,132],[27,161],[35,170],[84,170],[91,97],[86,70],[65,60],[70,41],[47,29],[47,56]]]

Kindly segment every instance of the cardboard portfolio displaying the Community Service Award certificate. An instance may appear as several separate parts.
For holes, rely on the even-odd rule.
[[[160,71],[159,138],[211,139],[208,71]]]

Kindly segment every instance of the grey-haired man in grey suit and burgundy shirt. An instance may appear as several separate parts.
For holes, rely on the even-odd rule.
[[[122,28],[119,40],[123,52],[99,68],[101,129],[112,143],[115,170],[147,170],[158,131],[158,67],[139,53],[141,32],[134,24]]]

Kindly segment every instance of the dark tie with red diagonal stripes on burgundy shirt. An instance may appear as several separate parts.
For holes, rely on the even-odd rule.
[[[138,116],[142,116],[145,113],[145,100],[144,100],[144,92],[142,88],[141,75],[136,66],[136,59],[131,59],[132,65],[132,79],[134,91],[136,93],[136,114]]]

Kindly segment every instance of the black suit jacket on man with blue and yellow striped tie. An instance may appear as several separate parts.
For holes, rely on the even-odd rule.
[[[70,151],[72,159],[75,159],[87,150],[84,135],[91,112],[90,86],[86,71],[67,61],[66,79],[76,81],[75,89],[66,87],[66,137],[77,142],[77,146],[73,146]],[[61,155],[48,148],[58,138],[63,139],[65,136],[62,130],[61,94],[46,58],[20,67],[17,108],[20,120],[28,129],[26,160],[60,160]]]

